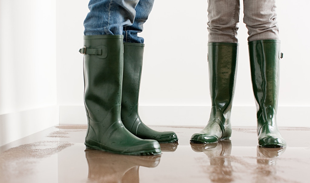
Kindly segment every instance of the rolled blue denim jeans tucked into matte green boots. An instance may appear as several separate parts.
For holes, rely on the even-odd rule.
[[[84,35],[124,35],[124,42],[144,43],[138,33],[154,0],[90,0]]]

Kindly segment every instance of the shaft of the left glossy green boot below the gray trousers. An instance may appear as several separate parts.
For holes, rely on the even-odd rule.
[[[217,112],[230,115],[236,86],[237,60],[237,43],[208,43],[211,115],[217,116]]]

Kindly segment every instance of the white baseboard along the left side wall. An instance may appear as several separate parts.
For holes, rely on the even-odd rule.
[[[0,115],[0,146],[59,124],[58,106]]]

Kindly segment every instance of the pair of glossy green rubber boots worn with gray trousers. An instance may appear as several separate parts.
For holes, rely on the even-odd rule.
[[[258,143],[263,147],[284,147],[276,123],[279,60],[282,58],[279,40],[249,42],[250,69],[257,109]],[[237,43],[208,43],[209,85],[212,101],[206,127],[193,134],[193,143],[215,143],[232,134],[230,114],[237,74]]]

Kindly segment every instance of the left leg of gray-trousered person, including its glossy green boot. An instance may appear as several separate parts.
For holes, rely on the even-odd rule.
[[[193,143],[215,143],[231,136],[230,114],[237,74],[239,11],[239,0],[208,1],[208,65],[212,107],[206,127],[191,137]]]

